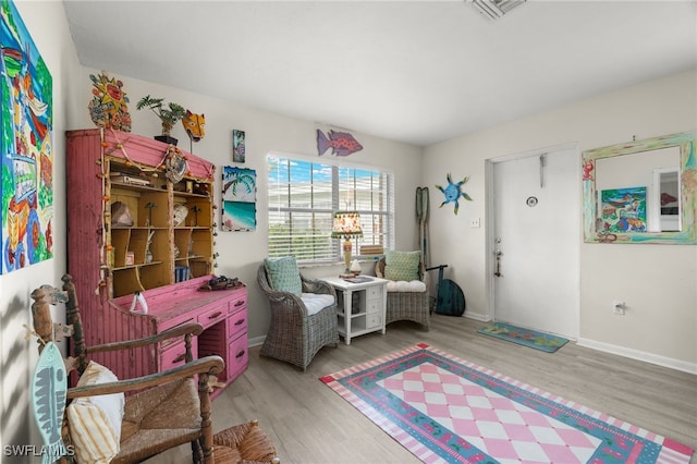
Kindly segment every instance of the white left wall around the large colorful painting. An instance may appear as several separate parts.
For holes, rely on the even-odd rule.
[[[32,327],[29,294],[45,283],[61,284],[65,271],[65,138],[72,77],[80,64],[62,2],[20,1],[16,9],[53,78],[53,258],[0,276],[0,449],[5,444],[35,443],[30,415],[29,377],[37,359],[36,339],[25,341]],[[58,320],[64,315],[56,314]],[[26,462],[26,456],[2,462]]]

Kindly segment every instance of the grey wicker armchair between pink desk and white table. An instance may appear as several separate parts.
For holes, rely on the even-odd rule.
[[[305,279],[302,274],[301,280],[303,293],[329,294],[333,296],[333,303],[308,315],[303,298],[290,292],[273,290],[266,266],[259,266],[257,282],[269,298],[271,307],[271,325],[260,354],[306,370],[321,347],[339,345],[339,329],[334,289],[327,282]]]

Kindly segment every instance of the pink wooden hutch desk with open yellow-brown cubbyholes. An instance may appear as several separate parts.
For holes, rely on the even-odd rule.
[[[219,381],[244,371],[246,286],[199,291],[215,260],[213,174],[208,161],[155,139],[99,129],[66,133],[68,269],[88,346],[195,320],[205,328],[195,355],[225,361]],[[124,205],[133,224],[112,224],[112,208]],[[131,310],[137,294],[147,312],[140,304]],[[183,353],[181,341],[93,358],[129,378],[183,363]]]

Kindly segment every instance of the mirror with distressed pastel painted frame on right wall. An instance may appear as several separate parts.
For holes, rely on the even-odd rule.
[[[586,243],[697,243],[697,132],[583,154]]]

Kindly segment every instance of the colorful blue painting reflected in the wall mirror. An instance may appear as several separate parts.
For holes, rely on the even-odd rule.
[[[604,231],[646,232],[646,187],[602,191],[600,210]]]

